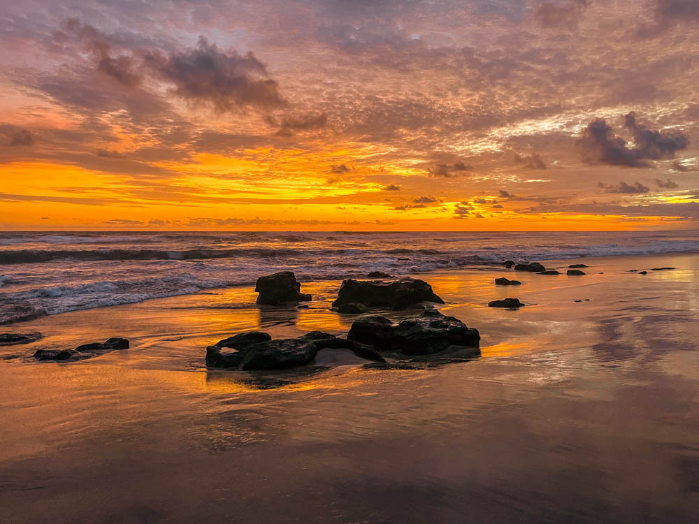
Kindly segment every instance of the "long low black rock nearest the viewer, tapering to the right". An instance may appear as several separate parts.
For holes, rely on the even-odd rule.
[[[222,351],[221,342],[232,351]],[[267,333],[250,331],[206,348],[209,367],[239,367],[241,370],[282,370],[310,363],[320,349],[349,349],[365,360],[384,362],[370,347],[322,331],[298,338],[271,340]]]

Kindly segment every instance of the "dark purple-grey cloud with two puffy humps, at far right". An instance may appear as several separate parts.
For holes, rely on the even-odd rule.
[[[608,163],[615,166],[647,167],[648,160],[672,158],[689,145],[689,136],[682,131],[653,131],[636,122],[634,112],[624,117],[624,125],[632,133],[634,146],[616,136],[603,119],[594,119],[575,142],[586,163]]]

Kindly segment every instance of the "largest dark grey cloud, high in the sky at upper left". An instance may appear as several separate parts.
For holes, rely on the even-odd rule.
[[[252,52],[224,51],[203,36],[196,48],[167,55],[150,52],[143,59],[159,78],[174,85],[174,94],[210,103],[219,111],[269,110],[285,104],[278,83],[268,78],[266,66]]]

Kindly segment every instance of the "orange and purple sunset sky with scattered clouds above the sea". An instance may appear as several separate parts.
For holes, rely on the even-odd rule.
[[[699,222],[696,0],[0,6],[0,228]]]

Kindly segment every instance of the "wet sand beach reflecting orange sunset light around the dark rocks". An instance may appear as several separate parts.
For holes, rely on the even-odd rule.
[[[204,367],[240,330],[346,333],[338,281],[303,284],[308,309],[247,287],[3,326],[44,337],[0,347],[0,521],[699,521],[699,256],[544,261],[579,262],[414,275],[482,356],[410,370]],[[131,349],[24,357],[114,336]]]

